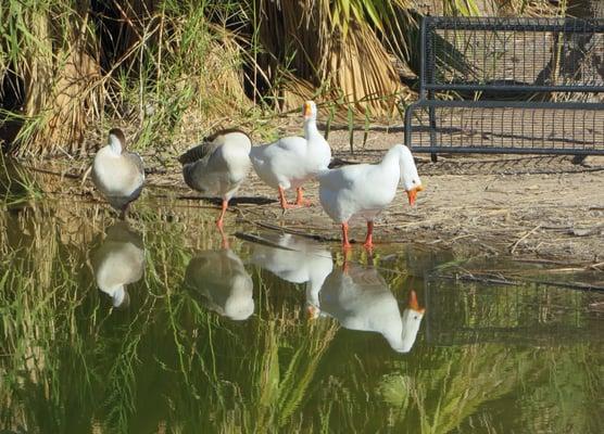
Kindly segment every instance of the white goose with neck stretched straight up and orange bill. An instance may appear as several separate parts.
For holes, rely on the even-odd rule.
[[[284,209],[307,204],[303,199],[302,184],[327,169],[331,150],[318,132],[317,107],[306,101],[303,108],[304,138],[284,137],[276,142],[252,148],[250,158],[257,176],[268,186],[279,190]],[[287,203],[285,191],[295,188],[295,204]]]

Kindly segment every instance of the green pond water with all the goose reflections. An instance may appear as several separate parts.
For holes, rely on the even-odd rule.
[[[2,194],[0,432],[604,432],[602,294],[232,216],[226,247],[215,209],[152,194],[127,224]]]

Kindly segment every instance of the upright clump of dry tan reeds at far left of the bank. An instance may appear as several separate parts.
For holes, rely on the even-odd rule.
[[[24,50],[22,71],[24,115],[38,119],[29,140],[41,143],[36,153],[42,155],[60,146],[81,152],[89,108],[99,105],[99,65],[90,51],[88,13],[73,11],[58,22],[45,10],[24,15],[36,40]]]

